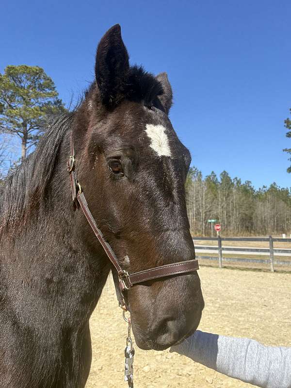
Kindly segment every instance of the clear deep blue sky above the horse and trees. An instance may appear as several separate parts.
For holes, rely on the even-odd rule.
[[[131,63],[168,73],[172,124],[203,175],[290,187],[290,13],[290,0],[5,2],[0,72],[39,65],[69,103],[94,78],[99,39],[119,23]]]

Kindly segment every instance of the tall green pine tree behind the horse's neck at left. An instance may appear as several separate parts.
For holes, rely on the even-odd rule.
[[[9,65],[0,74],[0,132],[21,140],[21,160],[38,140],[47,113],[64,112],[51,78],[38,66]]]

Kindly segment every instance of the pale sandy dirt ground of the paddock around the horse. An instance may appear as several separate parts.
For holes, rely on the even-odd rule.
[[[201,267],[205,309],[200,330],[291,346],[291,274]],[[91,318],[93,360],[86,388],[126,388],[127,325],[110,279]],[[253,387],[176,353],[135,347],[135,388]]]

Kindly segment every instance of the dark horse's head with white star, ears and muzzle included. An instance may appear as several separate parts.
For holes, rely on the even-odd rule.
[[[98,226],[129,273],[194,259],[184,189],[191,157],[168,116],[167,75],[129,65],[119,25],[101,39],[95,73],[73,137],[78,177]],[[83,242],[96,246],[82,214],[78,224]],[[135,285],[126,303],[137,345],[156,350],[193,332],[204,306],[196,272]]]

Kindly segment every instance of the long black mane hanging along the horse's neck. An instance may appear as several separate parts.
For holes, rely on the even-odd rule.
[[[33,200],[41,201],[45,197],[60,144],[70,129],[72,117],[73,113],[65,113],[48,120],[36,150],[5,179],[0,191],[0,230],[19,220]]]

